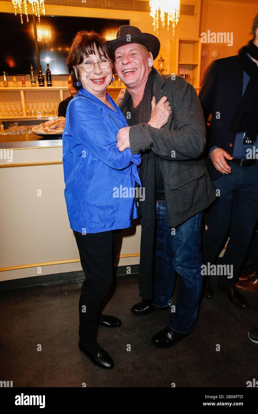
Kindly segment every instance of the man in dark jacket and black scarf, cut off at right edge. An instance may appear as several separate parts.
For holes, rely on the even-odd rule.
[[[258,211],[258,14],[252,25],[253,39],[236,56],[215,60],[200,90],[205,119],[212,114],[208,134],[207,167],[219,197],[205,214],[203,260],[213,265],[229,230],[230,239],[222,265],[233,274],[222,274],[218,288],[234,305],[249,308],[234,286],[255,232]],[[205,281],[205,297],[212,289]]]

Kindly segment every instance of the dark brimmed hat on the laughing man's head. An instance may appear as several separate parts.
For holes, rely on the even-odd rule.
[[[128,34],[130,34],[130,38],[128,38]],[[130,41],[128,39],[130,39]],[[148,51],[152,53],[153,60],[155,60],[159,54],[160,42],[156,36],[149,33],[142,33],[137,27],[128,24],[119,27],[116,33],[116,39],[108,41],[109,46],[111,46],[113,51],[120,46],[128,45],[129,42],[144,45]]]

